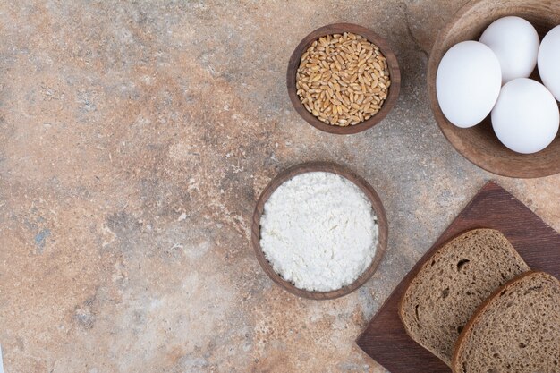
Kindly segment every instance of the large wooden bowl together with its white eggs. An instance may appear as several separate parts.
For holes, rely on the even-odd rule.
[[[437,124],[463,157],[503,176],[560,173],[560,2],[480,0],[428,62]]]

